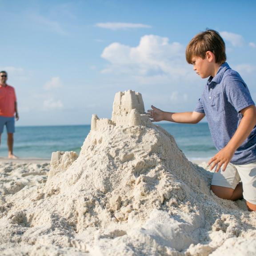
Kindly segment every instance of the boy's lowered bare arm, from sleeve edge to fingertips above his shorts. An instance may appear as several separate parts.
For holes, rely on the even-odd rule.
[[[240,121],[238,128],[232,139],[228,142],[226,147],[222,148],[215,156],[211,158],[208,165],[212,164],[211,170],[217,166],[216,172],[219,172],[221,166],[222,170],[225,171],[229,161],[232,159],[236,152],[236,149],[244,142],[244,140],[250,135],[252,129],[256,125],[256,107],[251,105],[240,111],[243,118]]]

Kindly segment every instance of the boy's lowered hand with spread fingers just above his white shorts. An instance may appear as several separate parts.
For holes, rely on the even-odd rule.
[[[223,165],[222,171],[224,172],[227,168],[227,165],[229,161],[232,159],[233,155],[235,154],[234,150],[231,150],[230,148],[222,148],[215,156],[211,158],[211,160],[208,162],[208,165],[211,165],[210,170],[214,167],[216,167],[215,172],[219,172],[221,166]]]

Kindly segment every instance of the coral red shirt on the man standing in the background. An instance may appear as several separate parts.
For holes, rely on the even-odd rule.
[[[0,116],[12,117],[15,114],[16,95],[12,86],[0,85]]]

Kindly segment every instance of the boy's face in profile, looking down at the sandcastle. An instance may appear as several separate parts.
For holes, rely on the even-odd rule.
[[[208,58],[192,57],[193,69],[201,78],[207,78],[212,75],[212,62]]]

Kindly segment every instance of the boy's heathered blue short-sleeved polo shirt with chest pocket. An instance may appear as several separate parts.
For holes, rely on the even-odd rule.
[[[205,113],[218,151],[232,138],[243,115],[240,111],[255,105],[247,85],[227,63],[220,66],[216,76],[209,77],[195,112]],[[256,161],[256,126],[236,150],[232,164],[249,164]]]

